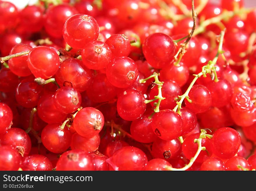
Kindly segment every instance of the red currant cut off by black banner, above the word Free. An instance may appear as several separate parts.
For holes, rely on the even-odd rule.
[[[43,155],[34,154],[23,159],[22,170],[45,171],[52,170],[51,161]]]

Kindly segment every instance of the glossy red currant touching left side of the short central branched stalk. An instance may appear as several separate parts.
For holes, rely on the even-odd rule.
[[[135,89],[126,90],[117,99],[117,112],[123,119],[133,121],[146,110],[145,97]]]

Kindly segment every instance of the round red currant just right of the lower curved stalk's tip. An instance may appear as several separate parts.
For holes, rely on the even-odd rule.
[[[211,139],[212,152],[221,159],[233,157],[241,144],[239,133],[230,127],[219,128]]]

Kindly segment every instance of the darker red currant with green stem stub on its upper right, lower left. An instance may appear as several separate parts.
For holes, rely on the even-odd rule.
[[[46,149],[53,153],[62,153],[70,147],[71,133],[67,127],[61,128],[61,124],[48,124],[42,130],[42,143]]]

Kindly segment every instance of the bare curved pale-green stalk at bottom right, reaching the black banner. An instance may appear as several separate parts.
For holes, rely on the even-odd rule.
[[[204,129],[201,129],[201,133],[199,135],[199,138],[194,140],[194,143],[198,143],[198,149],[195,153],[195,156],[190,159],[188,164],[186,164],[182,168],[173,168],[173,167],[170,167],[170,166],[166,166],[166,169],[167,170],[175,170],[175,171],[184,171],[184,170],[189,169],[194,164],[194,162],[197,159],[200,152],[206,150],[205,147],[202,147],[202,139],[205,139],[206,137],[212,138],[212,135],[207,134],[207,131],[205,131]]]

